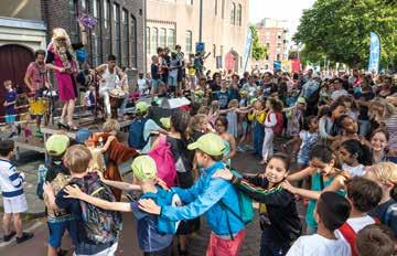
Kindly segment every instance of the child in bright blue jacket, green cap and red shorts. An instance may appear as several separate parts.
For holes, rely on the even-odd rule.
[[[203,170],[200,179],[190,189],[172,189],[185,205],[161,206],[152,200],[141,199],[139,207],[174,222],[205,214],[212,230],[206,255],[236,256],[246,233],[246,222],[240,217],[242,207],[236,204],[239,202],[239,193],[230,182],[212,178],[217,170],[224,168],[221,162],[225,149],[224,141],[215,134],[206,134],[187,148],[195,150],[197,164]]]

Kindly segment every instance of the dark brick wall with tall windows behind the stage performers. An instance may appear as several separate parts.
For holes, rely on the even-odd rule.
[[[54,28],[64,28],[72,42],[79,42],[78,17],[88,13],[97,19],[89,31],[86,50],[93,66],[105,63],[109,54],[118,65],[132,71],[144,66],[144,0],[41,0],[47,41]]]

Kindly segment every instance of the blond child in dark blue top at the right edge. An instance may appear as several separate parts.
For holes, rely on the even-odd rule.
[[[380,203],[369,213],[382,224],[391,228],[397,237],[397,164],[379,162],[371,167],[365,178],[375,181],[382,188]]]

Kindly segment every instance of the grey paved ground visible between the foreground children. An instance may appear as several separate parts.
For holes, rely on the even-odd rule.
[[[36,183],[36,169],[39,164],[43,161],[43,156],[36,153],[22,153],[21,161],[18,164],[18,169],[26,173],[26,184],[25,192],[28,198],[28,203],[30,207],[30,213],[40,213],[43,211],[43,202],[35,196],[35,183]],[[239,153],[234,160],[235,168],[244,170],[249,173],[254,173],[257,170],[260,170],[260,167],[257,164],[258,160],[251,157],[249,153]],[[125,178],[130,180],[130,174]],[[32,216],[29,215],[29,218]],[[119,242],[119,249],[117,255],[141,255],[136,236],[136,221],[131,214],[124,214],[124,232]],[[192,238],[190,244],[190,253],[193,256],[200,256],[205,254],[207,246],[207,241],[210,237],[210,230],[205,224],[205,221],[202,220],[203,228],[201,232]],[[32,241],[24,243],[21,246],[17,246],[14,243],[4,244],[0,243],[0,254],[2,256],[19,256],[21,252],[29,252],[29,256],[42,256],[46,254],[46,237],[47,228],[45,225],[45,218],[37,218],[34,221],[29,221],[29,226],[34,230],[35,237]],[[258,220],[256,218],[247,227],[249,231],[243,246],[242,254],[243,256],[257,255],[259,249],[260,242],[260,228]],[[2,236],[2,231],[0,231],[0,236]],[[71,241],[65,237],[63,248],[69,248]],[[68,255],[72,255],[68,254]]]

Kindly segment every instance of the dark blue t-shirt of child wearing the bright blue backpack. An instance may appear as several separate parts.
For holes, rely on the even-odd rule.
[[[144,193],[140,198],[155,196],[157,194],[153,193]],[[173,235],[159,233],[159,216],[140,211],[137,201],[131,202],[130,205],[138,221],[137,236],[140,249],[146,253],[152,253],[169,247],[173,241]]]

